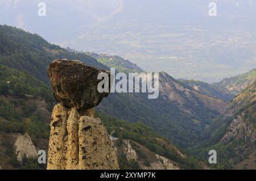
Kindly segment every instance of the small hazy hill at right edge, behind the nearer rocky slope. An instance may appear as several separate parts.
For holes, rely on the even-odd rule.
[[[230,94],[237,95],[242,90],[246,89],[256,80],[256,69],[248,73],[238,75],[236,77],[225,78],[221,82],[213,83],[223,91],[228,91]]]

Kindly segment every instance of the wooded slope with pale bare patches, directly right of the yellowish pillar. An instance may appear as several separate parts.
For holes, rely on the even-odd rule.
[[[121,169],[205,169],[204,163],[140,122],[132,124],[102,113],[98,116],[112,134]]]

